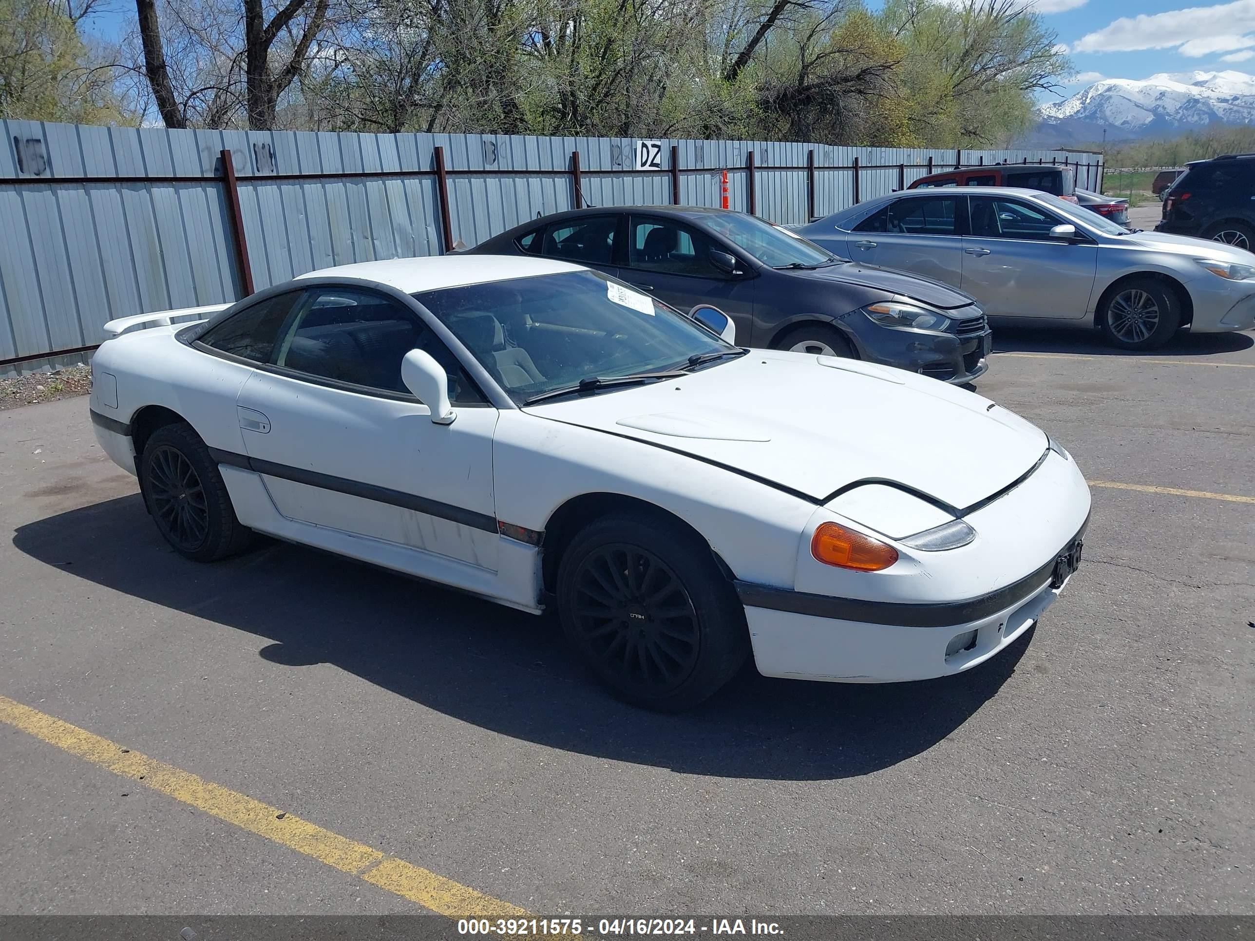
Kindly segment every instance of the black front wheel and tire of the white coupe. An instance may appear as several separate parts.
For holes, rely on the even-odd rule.
[[[710,547],[661,517],[612,514],[571,541],[557,572],[562,630],[619,698],[690,709],[749,652],[745,612]]]

